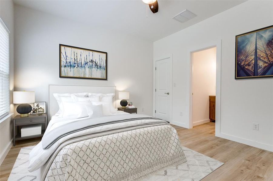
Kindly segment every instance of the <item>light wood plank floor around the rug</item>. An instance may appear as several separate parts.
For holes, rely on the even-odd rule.
[[[215,123],[212,122],[193,129],[174,127],[183,146],[225,163],[202,181],[273,181],[273,152],[215,137]],[[1,181],[8,179],[20,149],[39,141],[36,138],[16,142],[0,166]]]

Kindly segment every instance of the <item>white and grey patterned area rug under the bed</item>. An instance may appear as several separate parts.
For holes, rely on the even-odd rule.
[[[36,172],[28,172],[28,157],[34,146],[21,148],[8,181],[38,181]],[[224,163],[183,147],[187,162],[155,174],[145,181],[198,181]]]

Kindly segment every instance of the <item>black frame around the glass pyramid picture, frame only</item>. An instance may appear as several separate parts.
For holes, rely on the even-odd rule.
[[[248,34],[251,34],[251,33],[256,33],[256,32],[267,30],[267,29],[271,29],[271,28],[273,28],[273,25],[268,26],[268,27],[264,27],[264,28],[260,28],[260,29],[257,29],[257,30],[249,31],[247,33],[242,33],[242,34],[239,34],[239,35],[235,36],[235,79],[236,80],[238,80],[238,79],[251,79],[251,78],[272,78],[273,77],[273,75],[257,75],[257,76],[253,75],[253,76],[241,76],[241,77],[239,77],[237,75],[238,74],[238,71],[237,71],[238,70],[238,66],[240,66],[240,65],[238,65],[238,62],[237,62],[237,58],[238,58],[238,38],[242,37],[242,36],[245,36],[245,35],[248,35]],[[255,52],[255,55],[256,54],[257,54],[257,51]],[[257,55],[255,57],[257,57]],[[273,66],[273,63],[271,63],[270,67],[271,66]],[[247,72],[245,72],[245,73],[247,73]]]

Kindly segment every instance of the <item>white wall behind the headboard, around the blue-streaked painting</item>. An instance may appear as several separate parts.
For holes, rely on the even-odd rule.
[[[152,115],[153,43],[97,29],[92,18],[78,23],[15,5],[15,90],[47,102],[48,84],[116,85],[130,91],[138,113]],[[59,78],[59,43],[108,52],[108,81]]]

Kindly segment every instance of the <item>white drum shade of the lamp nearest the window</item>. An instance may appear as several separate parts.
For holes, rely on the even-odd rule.
[[[13,92],[13,103],[14,104],[26,104],[35,102],[34,91],[14,91]]]

